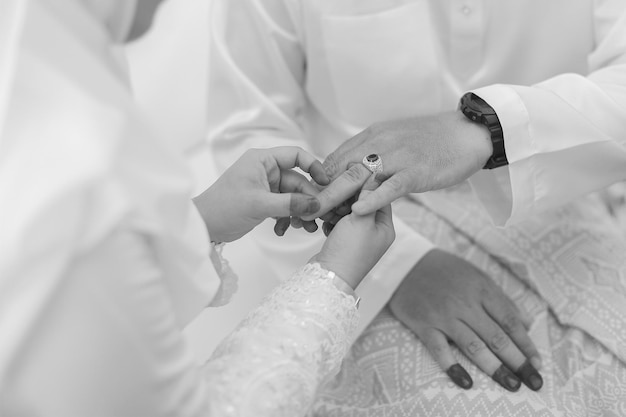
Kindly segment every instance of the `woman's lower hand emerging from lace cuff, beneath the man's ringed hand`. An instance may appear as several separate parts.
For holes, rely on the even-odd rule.
[[[372,175],[359,198],[366,197],[377,186]],[[319,262],[324,269],[333,271],[356,288],[394,239],[390,205],[365,216],[349,214],[337,223],[311,261]]]

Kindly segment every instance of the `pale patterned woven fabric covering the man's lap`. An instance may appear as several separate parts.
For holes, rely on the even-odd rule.
[[[405,199],[394,214],[529,313],[544,386],[510,393],[453,348],[474,379],[462,390],[384,310],[311,415],[626,416],[626,241],[598,196],[507,229],[491,226],[467,185]]]

